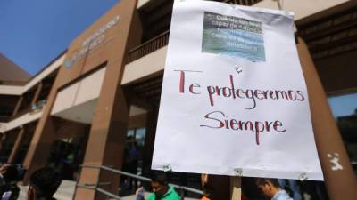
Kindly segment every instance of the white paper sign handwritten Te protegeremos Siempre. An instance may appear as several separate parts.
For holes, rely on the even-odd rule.
[[[323,180],[293,18],[175,2],[154,169]]]

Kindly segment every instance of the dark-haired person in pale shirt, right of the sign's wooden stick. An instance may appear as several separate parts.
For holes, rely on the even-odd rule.
[[[293,200],[284,189],[280,188],[277,179],[259,178],[256,180],[256,185],[261,190],[262,195],[270,200]]]

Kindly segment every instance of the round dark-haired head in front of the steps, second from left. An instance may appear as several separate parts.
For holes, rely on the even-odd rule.
[[[60,187],[62,178],[54,168],[43,167],[29,178],[28,200],[55,200],[54,193]]]

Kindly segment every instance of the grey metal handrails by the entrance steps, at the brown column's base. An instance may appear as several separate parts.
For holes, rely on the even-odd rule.
[[[79,184],[80,174],[81,174],[83,168],[99,170],[97,181],[96,181],[95,184],[93,184],[93,183],[92,184]],[[79,174],[78,174],[77,181],[76,181],[76,187],[74,189],[74,194],[73,194],[73,198],[72,199],[74,200],[75,197],[76,197],[77,188],[85,188],[85,189],[95,190],[95,192],[98,192],[98,193],[100,193],[100,194],[102,194],[102,195],[104,195],[106,197],[110,197],[110,198],[113,198],[113,199],[121,200],[122,198],[120,196],[118,196],[116,194],[113,194],[111,192],[108,192],[108,191],[104,190],[103,188],[100,188],[100,186],[108,186],[108,185],[112,184],[111,182],[100,182],[100,175],[101,175],[102,170],[106,171],[106,172],[112,172],[112,173],[115,173],[115,174],[119,174],[119,175],[122,175],[122,176],[127,176],[127,177],[130,177],[130,178],[135,179],[135,180],[142,180],[142,181],[146,181],[146,182],[150,182],[151,181],[150,178],[147,178],[147,177],[144,177],[144,176],[139,176],[137,174],[133,174],[133,173],[129,173],[129,172],[123,172],[123,171],[120,171],[120,170],[115,170],[115,169],[112,169],[111,167],[108,167],[108,166],[80,165]],[[192,192],[192,193],[197,194],[197,195],[203,195],[203,191],[199,190],[199,189],[189,188],[189,187],[186,187],[186,186],[179,186],[179,185],[176,185],[176,184],[169,184],[169,185],[171,187],[176,188],[176,189],[179,190],[179,194],[181,196],[181,199],[184,199],[186,192]]]

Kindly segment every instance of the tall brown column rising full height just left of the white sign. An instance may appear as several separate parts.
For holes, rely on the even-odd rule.
[[[125,140],[128,131],[130,95],[121,86],[125,67],[125,55],[128,46],[137,44],[141,39],[141,30],[132,24],[137,1],[122,0],[112,11],[122,15],[117,34],[111,45],[106,46],[107,65],[100,97],[97,100],[95,116],[89,133],[86,155],[83,164],[105,165],[121,169]],[[106,17],[106,16],[104,16]],[[120,16],[121,17],[121,16]],[[129,34],[130,32],[130,34]],[[108,36],[109,38],[110,36]],[[118,194],[120,177],[112,172],[100,172],[97,169],[83,168],[79,184],[98,182],[110,185],[100,186],[112,194]],[[105,199],[94,190],[77,188],[74,199]]]

